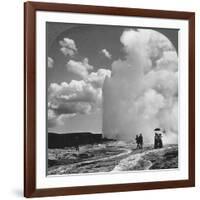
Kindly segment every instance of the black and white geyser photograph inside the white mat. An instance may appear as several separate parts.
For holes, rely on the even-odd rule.
[[[48,176],[179,168],[178,33],[46,23]]]

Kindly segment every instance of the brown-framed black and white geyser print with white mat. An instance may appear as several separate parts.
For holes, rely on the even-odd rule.
[[[25,3],[24,195],[195,184],[195,14]]]

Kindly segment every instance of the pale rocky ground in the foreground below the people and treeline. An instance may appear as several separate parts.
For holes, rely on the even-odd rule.
[[[147,145],[108,141],[101,144],[48,149],[48,175],[158,170],[178,168],[178,146],[153,149]]]

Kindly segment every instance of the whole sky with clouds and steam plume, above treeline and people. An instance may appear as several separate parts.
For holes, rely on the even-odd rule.
[[[177,137],[178,30],[47,23],[46,33],[49,131]]]

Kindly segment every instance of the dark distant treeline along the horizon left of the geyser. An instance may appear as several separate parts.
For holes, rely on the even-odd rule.
[[[73,147],[84,144],[102,143],[111,140],[112,139],[103,138],[101,133],[48,133],[48,148]]]

